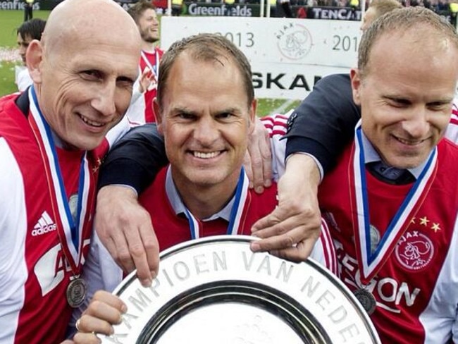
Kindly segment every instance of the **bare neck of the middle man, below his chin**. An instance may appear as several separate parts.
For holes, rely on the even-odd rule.
[[[173,173],[172,173],[173,176]],[[238,176],[233,180],[225,180],[218,185],[195,185],[178,181],[175,186],[183,203],[199,220],[207,219],[223,209],[230,201],[237,188]]]

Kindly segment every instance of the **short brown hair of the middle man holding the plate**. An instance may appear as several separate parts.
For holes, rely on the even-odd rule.
[[[245,87],[248,98],[248,106],[254,99],[254,87],[252,82],[252,68],[247,56],[238,49],[229,39],[216,33],[201,33],[192,35],[174,42],[163,54],[159,64],[159,80],[157,86],[157,99],[162,105],[163,94],[166,91],[168,75],[175,60],[187,51],[195,61],[215,61],[223,64],[221,57],[228,58],[235,63]]]

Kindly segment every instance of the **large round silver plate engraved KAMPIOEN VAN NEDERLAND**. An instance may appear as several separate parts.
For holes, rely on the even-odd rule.
[[[114,290],[128,312],[102,343],[380,343],[338,278],[311,259],[253,253],[252,240],[221,235],[161,252],[151,287],[133,272]]]

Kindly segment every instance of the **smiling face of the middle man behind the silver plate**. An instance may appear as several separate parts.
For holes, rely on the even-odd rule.
[[[175,184],[235,188],[256,102],[248,101],[240,70],[225,57],[223,64],[196,61],[187,51],[171,66],[163,109],[155,103],[159,131]]]

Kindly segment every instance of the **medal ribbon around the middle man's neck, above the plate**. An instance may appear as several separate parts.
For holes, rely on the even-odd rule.
[[[235,190],[235,199],[233,208],[230,211],[230,220],[226,234],[236,235],[239,233],[240,221],[242,219],[243,208],[245,207],[245,202],[248,196],[248,184],[249,180],[245,169],[242,167],[240,171],[240,177],[237,182],[237,188]],[[199,234],[199,221],[194,218],[190,211],[186,209],[187,221],[190,223],[191,238],[198,239],[200,238]]]

